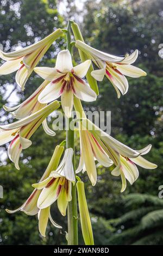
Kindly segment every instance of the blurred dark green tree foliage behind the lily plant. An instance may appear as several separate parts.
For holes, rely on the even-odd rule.
[[[97,245],[162,245],[163,243],[163,199],[159,199],[159,186],[163,185],[163,142],[162,142],[162,68],[158,55],[159,44],[163,43],[162,21],[163,3],[161,0],[133,1],[86,1],[83,11],[78,13],[76,1],[67,1],[65,16],[58,13],[61,1],[55,0],[3,0],[0,6],[0,41],[5,51],[14,50],[19,45],[33,43],[53,29],[65,27],[64,20],[73,18],[80,23],[86,42],[91,46],[112,54],[125,54],[139,49],[136,65],[148,73],[147,77],[129,78],[127,95],[117,99],[114,88],[108,80],[99,84],[99,96],[89,105],[98,111],[111,111],[111,135],[132,148],[141,149],[147,144],[153,148],[146,159],[158,164],[158,168],[139,168],[140,177],[133,186],[121,194],[121,180],[111,176],[110,170],[98,168],[98,182],[92,187],[86,175],[86,194],[92,217],[95,243]],[[65,40],[57,41],[40,65],[54,66],[57,52],[65,47]],[[74,50],[76,62],[79,61]],[[1,107],[10,99],[10,92],[24,100],[41,83],[33,74],[26,84],[24,93],[17,88],[15,74],[0,77]],[[14,105],[14,102],[13,102]],[[0,112],[0,120],[12,121],[11,115]],[[53,118],[49,119],[52,123]],[[61,217],[55,204],[53,218],[63,226],[60,233],[51,224],[47,236],[39,235],[37,218],[23,212],[9,215],[5,208],[16,209],[32,192],[31,184],[37,182],[51,159],[53,149],[62,139],[64,132],[57,132],[51,138],[43,133],[42,127],[32,137],[33,145],[23,151],[20,170],[8,159],[1,161],[0,183],[4,188],[0,210],[1,245],[58,245],[66,244],[66,217]],[[77,159],[79,159],[79,141]],[[5,146],[1,147],[3,158]],[[79,227],[80,230],[80,227]],[[79,236],[83,244],[82,236]]]

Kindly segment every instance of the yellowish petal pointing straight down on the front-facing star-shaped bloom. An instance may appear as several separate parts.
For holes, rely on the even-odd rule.
[[[62,109],[67,118],[71,117],[72,108],[73,108],[73,92],[70,90],[69,92],[64,91],[61,94],[61,105]]]

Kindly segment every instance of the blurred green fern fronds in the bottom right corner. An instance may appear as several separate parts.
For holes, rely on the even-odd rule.
[[[162,245],[163,202],[149,194],[133,193],[123,203],[126,214],[109,222],[116,227],[109,245]]]

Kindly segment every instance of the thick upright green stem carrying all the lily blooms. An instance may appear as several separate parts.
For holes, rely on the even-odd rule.
[[[71,23],[68,21],[67,25],[67,50],[72,51],[71,46]],[[66,147],[72,148],[74,151],[74,131],[70,128],[70,122],[72,118],[66,119]],[[76,170],[75,154],[73,154],[73,168]],[[77,211],[77,187],[76,184],[72,185],[72,200],[68,203],[67,207],[67,218],[68,218],[68,245],[78,245],[78,211]]]

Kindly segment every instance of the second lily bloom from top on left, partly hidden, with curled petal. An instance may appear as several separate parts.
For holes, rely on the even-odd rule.
[[[38,101],[38,96],[42,92],[43,88],[47,86],[49,82],[44,81],[39,88],[35,90],[35,92],[28,97],[27,100],[22,102],[20,105],[15,106],[15,107],[7,107],[3,106],[5,111],[12,111],[10,112],[14,118],[17,119],[22,119],[25,117],[28,117],[28,115],[33,114],[43,107],[45,107],[47,104],[42,104]],[[47,125],[47,120],[46,118],[42,122],[43,129],[47,133],[47,135],[54,136],[55,132],[49,129]]]

